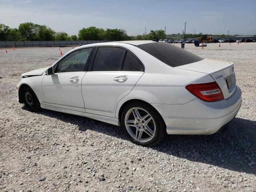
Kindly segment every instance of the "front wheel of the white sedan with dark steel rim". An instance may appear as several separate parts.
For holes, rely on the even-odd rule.
[[[26,86],[22,90],[23,102],[25,107],[31,112],[37,112],[40,110],[40,102],[34,91],[29,87]]]

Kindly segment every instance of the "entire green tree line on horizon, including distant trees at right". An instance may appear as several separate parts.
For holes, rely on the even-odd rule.
[[[200,34],[186,34],[186,38],[197,38]],[[216,38],[231,37],[222,35],[212,35]],[[69,36],[66,32],[55,32],[45,25],[34,24],[32,22],[21,23],[18,28],[10,28],[5,24],[0,24],[0,41],[69,41],[69,40],[153,40],[159,39],[180,39],[184,34],[164,34],[164,30],[150,30],[150,33],[128,36],[124,29],[97,28],[90,26],[78,31],[78,36]]]

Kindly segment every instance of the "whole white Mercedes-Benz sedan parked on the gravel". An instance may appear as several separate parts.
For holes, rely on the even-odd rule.
[[[213,134],[241,106],[234,64],[172,44],[124,41],[72,49],[52,66],[22,74],[18,102],[122,126],[132,142],[167,134]]]

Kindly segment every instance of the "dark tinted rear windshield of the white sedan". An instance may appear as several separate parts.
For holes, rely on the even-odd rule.
[[[169,43],[155,42],[137,45],[137,47],[171,67],[203,60],[203,58]]]

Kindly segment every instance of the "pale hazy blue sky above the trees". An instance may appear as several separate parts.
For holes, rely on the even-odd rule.
[[[128,35],[163,29],[166,34],[254,34],[256,0],[0,0],[0,23],[44,24],[56,32],[121,28]]]

